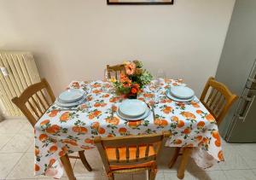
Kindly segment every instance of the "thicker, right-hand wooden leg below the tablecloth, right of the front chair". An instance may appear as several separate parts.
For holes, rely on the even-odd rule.
[[[183,179],[184,177],[184,171],[186,169],[186,166],[188,164],[189,156],[191,154],[192,148],[183,148],[183,155],[180,162],[180,165],[177,170],[177,177],[179,179]]]

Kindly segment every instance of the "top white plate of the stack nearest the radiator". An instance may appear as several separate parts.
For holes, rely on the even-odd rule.
[[[69,89],[61,93],[59,99],[61,102],[77,102],[84,96],[84,90]]]

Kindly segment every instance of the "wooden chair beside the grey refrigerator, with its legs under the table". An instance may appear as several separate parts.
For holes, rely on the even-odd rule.
[[[200,101],[212,114],[217,122],[217,125],[220,125],[224,119],[224,116],[226,113],[228,113],[231,105],[236,101],[236,99],[236,94],[231,93],[226,85],[211,77],[208,79],[207,84],[202,91]],[[181,153],[181,151],[183,151],[183,153]],[[179,165],[177,171],[177,177],[181,179],[184,177],[185,167],[188,163],[191,151],[192,148],[175,148],[174,155],[169,163],[169,167],[172,168],[177,160],[177,157],[182,155],[181,164]]]

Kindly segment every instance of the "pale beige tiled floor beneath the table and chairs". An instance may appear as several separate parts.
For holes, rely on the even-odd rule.
[[[256,144],[224,143],[225,162],[214,165],[207,171],[201,170],[193,160],[189,161],[184,179],[256,179]],[[177,179],[177,164],[167,168],[172,156],[170,148],[164,148],[156,179]],[[86,157],[93,168],[88,172],[80,160],[72,160],[73,171],[78,180],[105,180],[102,161],[96,149],[86,151]],[[166,158],[167,157],[167,158]],[[117,175],[117,180],[143,180],[146,173]],[[48,180],[44,176],[33,176],[32,126],[26,120],[11,119],[0,122],[0,179]],[[67,179],[65,175],[61,179]]]

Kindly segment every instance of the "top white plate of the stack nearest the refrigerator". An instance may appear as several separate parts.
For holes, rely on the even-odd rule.
[[[172,96],[175,96],[179,99],[189,99],[195,96],[194,90],[191,90],[186,86],[174,86],[171,88],[170,92]]]

